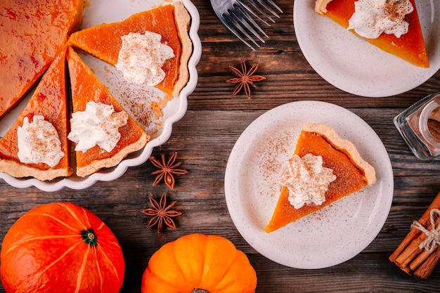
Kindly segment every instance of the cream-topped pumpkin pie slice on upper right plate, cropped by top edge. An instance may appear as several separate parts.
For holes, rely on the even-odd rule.
[[[414,0],[317,0],[315,11],[383,51],[414,65],[429,67]]]

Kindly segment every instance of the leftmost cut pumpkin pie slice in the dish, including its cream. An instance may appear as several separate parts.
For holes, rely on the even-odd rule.
[[[30,125],[41,131],[32,129]],[[29,129],[28,136],[20,132],[24,129]],[[70,176],[72,168],[69,167],[67,129],[64,48],[41,78],[25,108],[1,138],[0,171],[14,177],[32,176],[41,181]],[[30,154],[25,150],[29,150]]]

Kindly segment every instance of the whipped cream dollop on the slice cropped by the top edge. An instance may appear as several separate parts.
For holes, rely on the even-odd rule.
[[[414,10],[409,0],[358,0],[354,6],[348,30],[367,39],[376,39],[382,32],[400,38],[409,27],[403,18]]]

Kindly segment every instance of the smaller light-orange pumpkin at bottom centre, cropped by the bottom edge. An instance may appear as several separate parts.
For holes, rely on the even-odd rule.
[[[257,274],[247,256],[219,235],[190,234],[151,256],[142,293],[251,293]]]

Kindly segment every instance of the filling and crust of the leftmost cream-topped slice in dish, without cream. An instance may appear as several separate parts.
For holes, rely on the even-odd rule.
[[[25,118],[32,122],[35,117],[42,116],[51,122],[58,132],[61,150],[64,156],[58,164],[50,167],[43,162],[25,164],[18,156],[18,128],[22,127]],[[67,141],[67,99],[66,99],[66,67],[65,48],[53,61],[39,82],[32,97],[15,120],[6,135],[0,140],[0,171],[14,177],[32,176],[41,181],[52,180],[60,176],[70,176],[69,142]],[[31,142],[39,143],[38,141]]]

